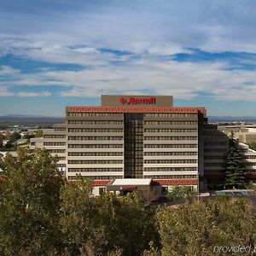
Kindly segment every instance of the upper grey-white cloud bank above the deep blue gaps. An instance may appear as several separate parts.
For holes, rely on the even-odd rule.
[[[2,5],[1,41],[11,39],[5,52],[20,48],[23,40],[35,47],[85,44],[88,49],[108,47],[140,54],[177,53],[188,47],[256,52],[256,3],[250,0],[84,1],[58,8],[37,3],[40,8],[25,4],[26,11],[22,6],[14,11]]]

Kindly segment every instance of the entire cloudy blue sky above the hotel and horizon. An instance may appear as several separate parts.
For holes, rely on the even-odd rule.
[[[0,0],[0,115],[102,94],[256,116],[256,1]]]

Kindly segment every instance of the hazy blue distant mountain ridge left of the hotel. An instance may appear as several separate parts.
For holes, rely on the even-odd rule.
[[[22,124],[59,124],[63,123],[63,117],[48,117],[39,115],[9,114],[0,116],[0,124],[22,125]]]

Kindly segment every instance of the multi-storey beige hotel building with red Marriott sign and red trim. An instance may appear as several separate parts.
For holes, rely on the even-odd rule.
[[[65,124],[44,130],[31,148],[58,154],[68,180],[80,174],[96,188],[147,178],[163,191],[204,189],[207,175],[222,170],[227,137],[207,124],[205,108],[172,102],[172,96],[102,96],[100,107],[67,107]]]

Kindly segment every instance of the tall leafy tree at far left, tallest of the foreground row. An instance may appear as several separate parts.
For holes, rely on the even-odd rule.
[[[63,183],[47,150],[17,149],[0,158],[0,254],[48,255],[61,250],[58,229]]]

